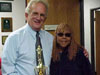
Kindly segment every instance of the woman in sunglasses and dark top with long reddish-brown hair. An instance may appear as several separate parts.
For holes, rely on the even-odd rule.
[[[56,29],[50,65],[50,75],[94,75],[90,62],[78,45],[71,28],[60,24]]]

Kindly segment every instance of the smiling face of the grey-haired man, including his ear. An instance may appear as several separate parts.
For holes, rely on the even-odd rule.
[[[42,3],[33,4],[26,20],[33,30],[39,31],[46,20],[46,7]]]

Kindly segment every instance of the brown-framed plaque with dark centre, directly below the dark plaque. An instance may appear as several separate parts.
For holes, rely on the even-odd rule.
[[[11,17],[1,17],[1,31],[12,32],[12,18]]]

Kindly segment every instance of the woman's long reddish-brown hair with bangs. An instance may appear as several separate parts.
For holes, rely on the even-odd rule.
[[[59,32],[63,33],[65,31],[69,31],[71,33],[71,42],[70,42],[70,45],[68,47],[68,58],[69,58],[69,60],[72,60],[76,56],[76,53],[78,51],[78,47],[81,47],[80,45],[78,45],[75,42],[74,37],[73,37],[73,32],[72,32],[70,26],[68,24],[61,23],[57,26],[57,29],[55,31],[55,36],[54,36],[54,41],[53,41],[53,51],[52,51],[53,61],[60,60],[59,53],[60,53],[61,49],[57,45],[57,33],[59,33]]]

